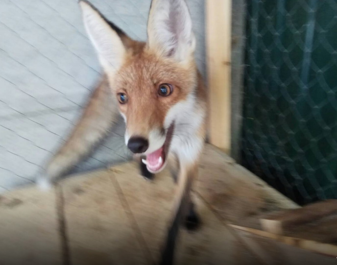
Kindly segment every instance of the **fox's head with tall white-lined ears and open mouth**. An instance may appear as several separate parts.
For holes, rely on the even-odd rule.
[[[147,42],[131,40],[87,1],[87,33],[126,122],[125,143],[146,156],[151,172],[165,164],[174,123],[194,100],[195,38],[185,0],[152,0]],[[112,102],[113,103],[113,102]]]

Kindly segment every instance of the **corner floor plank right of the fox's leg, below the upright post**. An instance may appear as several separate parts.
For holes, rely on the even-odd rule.
[[[203,151],[195,191],[233,224],[260,226],[261,214],[298,207],[212,145]]]

